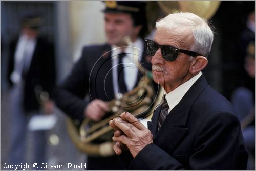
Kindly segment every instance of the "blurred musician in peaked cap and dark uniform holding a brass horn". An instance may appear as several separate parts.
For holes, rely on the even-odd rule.
[[[84,47],[80,59],[56,90],[56,105],[70,116],[77,126],[84,118],[93,121],[105,118],[109,111],[108,102],[120,98],[122,93],[131,91],[137,85],[140,75],[135,66],[136,62],[143,63],[146,69],[151,70],[150,58],[146,58],[149,56],[142,51],[145,47],[143,38],[147,32],[146,3],[104,3],[107,43]],[[134,48],[132,51],[131,48],[120,48],[127,46],[125,37],[129,37],[132,46],[140,50],[139,61],[134,60]],[[89,96],[87,100],[86,96]],[[112,141],[111,136],[109,138]],[[110,157],[88,156],[87,163],[89,170],[123,169],[114,154]]]

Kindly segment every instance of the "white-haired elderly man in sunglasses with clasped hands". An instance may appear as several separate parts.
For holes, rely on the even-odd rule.
[[[128,169],[246,169],[240,122],[232,105],[207,83],[202,69],[213,33],[192,13],[174,13],[156,23],[154,81],[165,90],[148,129],[130,113],[110,121],[114,150]],[[128,151],[129,150],[129,151]]]

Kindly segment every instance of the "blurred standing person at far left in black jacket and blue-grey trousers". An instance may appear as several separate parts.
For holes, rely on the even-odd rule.
[[[19,36],[10,43],[8,81],[11,88],[10,118],[11,144],[10,164],[24,163],[27,149],[28,121],[32,115],[53,113],[51,100],[55,85],[54,47],[46,39],[39,37],[42,18],[28,12],[22,19]],[[39,91],[39,92],[38,92]],[[40,100],[41,92],[49,95]],[[39,93],[39,94],[38,94]],[[46,162],[45,131],[33,131],[33,161]]]

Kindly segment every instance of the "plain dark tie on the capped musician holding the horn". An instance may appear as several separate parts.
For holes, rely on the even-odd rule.
[[[117,67],[117,84],[119,93],[127,92],[126,84],[124,81],[124,66],[123,66],[123,58],[125,53],[121,53],[118,55],[118,67]]]

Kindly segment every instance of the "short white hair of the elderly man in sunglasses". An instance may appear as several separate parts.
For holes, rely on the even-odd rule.
[[[194,45],[191,51],[195,51],[207,57],[210,53],[212,42],[214,41],[214,33],[212,32],[208,22],[189,12],[180,12],[169,14],[156,22],[156,28],[188,28],[194,36]]]

